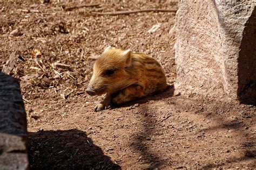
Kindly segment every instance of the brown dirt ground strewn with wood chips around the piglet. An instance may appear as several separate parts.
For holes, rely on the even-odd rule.
[[[11,75],[28,114],[31,169],[256,168],[256,107],[226,98],[174,96],[176,1],[0,3],[0,69],[16,52]],[[80,6],[79,8],[72,8]],[[155,32],[148,32],[160,24]],[[15,30],[15,31],[14,31]],[[100,112],[89,96],[92,58],[106,46],[150,54],[170,88]]]

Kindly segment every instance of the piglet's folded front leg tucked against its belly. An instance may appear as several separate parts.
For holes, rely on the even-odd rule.
[[[142,86],[133,84],[121,90],[120,93],[118,93],[118,95],[112,99],[112,102],[114,104],[122,104],[125,102],[129,102],[134,98],[145,96],[143,91],[144,88]]]

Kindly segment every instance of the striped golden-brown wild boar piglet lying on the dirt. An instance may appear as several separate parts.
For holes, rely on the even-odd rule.
[[[106,94],[95,111],[121,104],[167,88],[161,65],[151,56],[107,47],[93,65],[86,93]]]

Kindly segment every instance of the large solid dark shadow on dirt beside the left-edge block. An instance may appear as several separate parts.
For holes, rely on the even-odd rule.
[[[80,130],[29,132],[30,169],[120,169]]]

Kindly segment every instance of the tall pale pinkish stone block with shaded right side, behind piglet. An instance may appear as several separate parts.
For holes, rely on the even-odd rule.
[[[256,1],[179,1],[175,87],[256,101]]]

